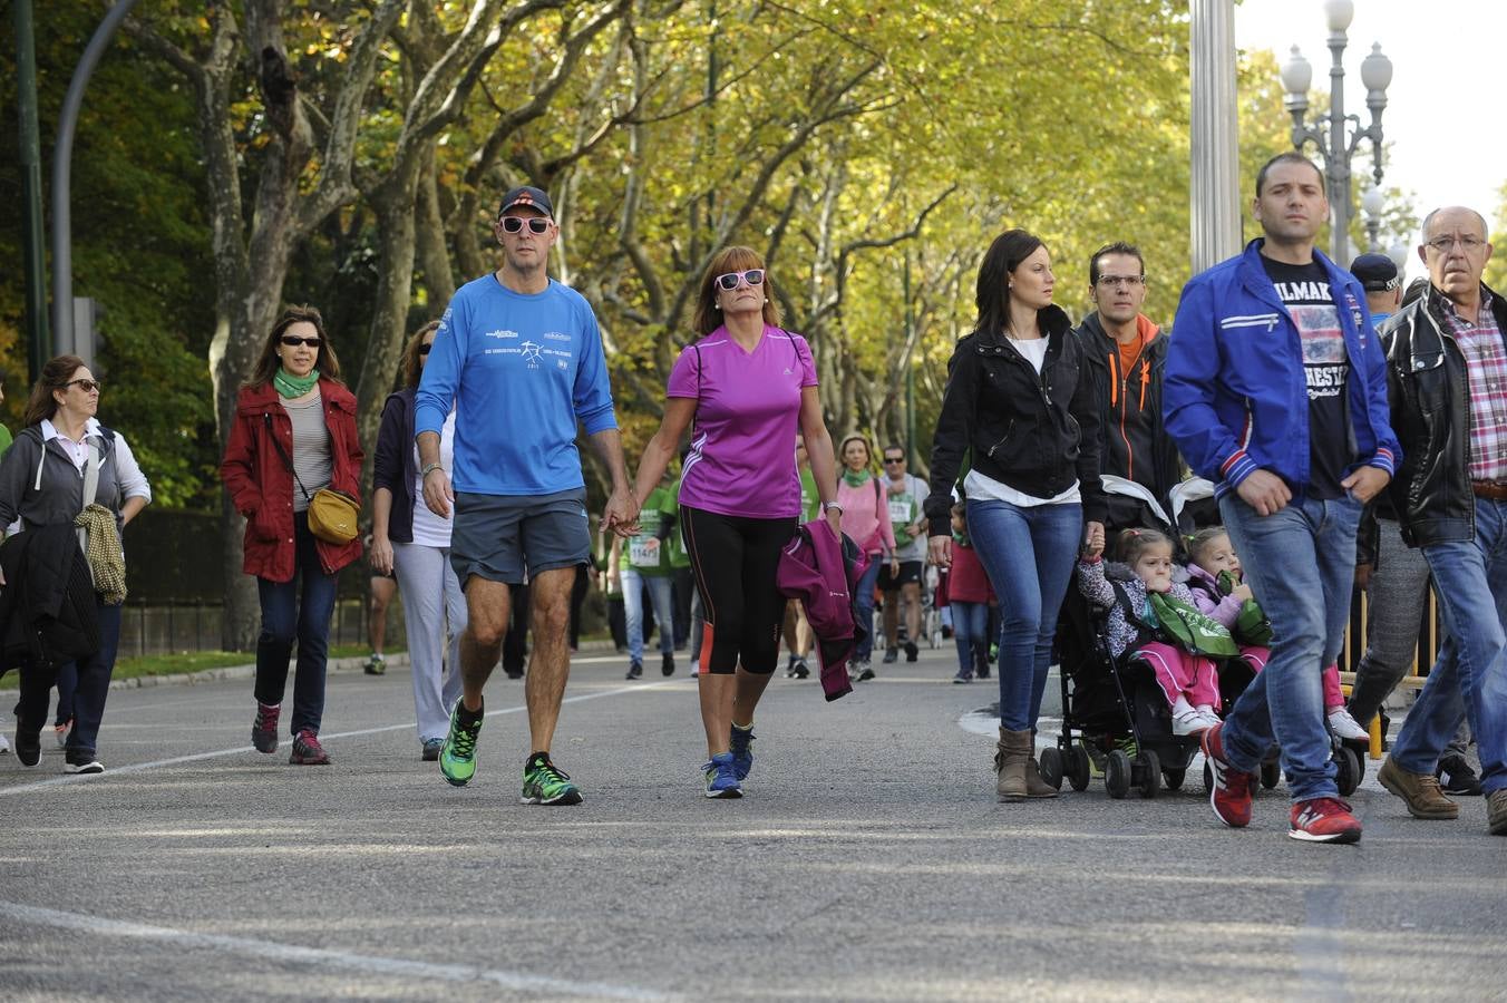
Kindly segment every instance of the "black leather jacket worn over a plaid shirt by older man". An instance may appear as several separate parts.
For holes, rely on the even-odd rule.
[[[1507,301],[1490,295],[1496,327],[1507,333]],[[1465,355],[1444,322],[1448,300],[1435,289],[1380,327],[1386,396],[1403,462],[1388,491],[1409,547],[1475,538],[1471,491],[1471,392]]]

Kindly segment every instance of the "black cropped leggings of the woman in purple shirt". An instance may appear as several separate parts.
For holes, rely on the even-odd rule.
[[[707,622],[701,670],[731,675],[741,663],[758,675],[775,672],[785,619],[785,596],[775,575],[779,554],[796,533],[796,518],[755,520],[689,506],[680,514]]]

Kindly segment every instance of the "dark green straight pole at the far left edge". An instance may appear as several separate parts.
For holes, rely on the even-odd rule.
[[[17,117],[21,133],[21,242],[26,268],[27,383],[53,355],[47,331],[47,244],[42,230],[42,143],[36,128],[36,36],[32,0],[14,0]]]

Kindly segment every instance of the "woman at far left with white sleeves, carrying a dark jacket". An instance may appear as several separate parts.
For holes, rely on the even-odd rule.
[[[115,515],[119,532],[146,508],[152,497],[146,477],[125,437],[99,425],[95,417],[98,410],[99,383],[81,358],[59,355],[42,367],[26,405],[26,428],[0,459],[0,527],[9,527],[17,520],[23,530],[71,524],[93,502]],[[93,497],[86,498],[90,480],[96,482]],[[105,602],[98,595],[96,601],[98,651],[59,670],[59,675],[77,673],[65,773],[104,773],[96,741],[121,640],[121,604]],[[41,758],[41,730],[47,723],[51,685],[51,673],[21,673],[15,753],[27,767],[35,767]]]

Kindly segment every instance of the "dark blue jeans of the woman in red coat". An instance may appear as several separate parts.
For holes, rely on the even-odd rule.
[[[324,669],[330,651],[330,614],[336,577],[324,574],[309,532],[307,514],[294,515],[294,575],[288,581],[256,580],[262,601],[262,633],[256,639],[256,699],[282,703],[288,687],[288,657],[298,642],[292,682],[292,733],[319,732],[324,718]],[[301,601],[300,601],[301,580]]]

